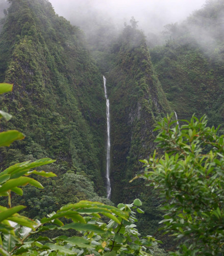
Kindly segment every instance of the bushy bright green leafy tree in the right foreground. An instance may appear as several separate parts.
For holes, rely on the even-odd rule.
[[[171,255],[223,255],[224,143],[207,119],[192,117],[180,127],[172,115],[158,122],[155,151],[144,163],[144,178],[159,190],[165,233],[178,240]]]

